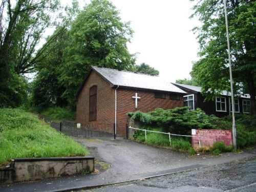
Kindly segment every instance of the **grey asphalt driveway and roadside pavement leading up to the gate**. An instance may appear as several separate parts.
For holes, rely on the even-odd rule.
[[[156,148],[125,139],[77,139],[87,146],[92,156],[103,166],[96,173],[34,183],[0,186],[0,191],[58,191],[85,186],[137,180],[141,178],[180,172],[182,170],[217,165],[256,156],[256,150],[226,153],[221,156],[193,156]],[[104,168],[110,167],[107,170]]]

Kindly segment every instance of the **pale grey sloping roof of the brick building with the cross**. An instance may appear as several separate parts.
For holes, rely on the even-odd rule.
[[[186,92],[176,87],[174,84],[164,80],[159,76],[135,73],[129,71],[119,71],[115,69],[92,67],[104,79],[108,80],[113,86],[147,89],[156,91],[166,91],[183,93]]]

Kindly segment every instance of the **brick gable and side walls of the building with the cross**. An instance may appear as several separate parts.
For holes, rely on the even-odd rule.
[[[89,92],[92,86],[97,86],[97,119],[89,121]],[[135,108],[135,93],[141,97],[138,100],[138,109]],[[125,124],[127,123],[128,112],[150,112],[156,108],[173,109],[183,106],[183,96],[180,100],[172,100],[169,93],[165,99],[155,98],[155,92],[132,89],[117,90],[117,134],[125,135]],[[105,81],[100,75],[92,71],[84,84],[77,100],[76,121],[83,124],[114,123],[115,122],[115,88]],[[111,129],[111,128],[110,128]]]

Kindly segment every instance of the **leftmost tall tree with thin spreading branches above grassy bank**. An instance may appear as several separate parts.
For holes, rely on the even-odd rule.
[[[26,92],[22,76],[34,69],[36,46],[50,26],[57,0],[3,0],[0,3],[0,102],[16,106]],[[16,95],[16,96],[14,96]]]

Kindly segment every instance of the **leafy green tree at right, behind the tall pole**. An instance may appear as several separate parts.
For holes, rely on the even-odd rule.
[[[220,90],[230,90],[225,16],[222,0],[196,2],[194,14],[202,22],[195,28],[201,57],[194,66],[192,76],[202,85],[211,99]],[[237,94],[248,90],[251,114],[256,113],[256,2],[250,0],[227,1],[234,89]]]

